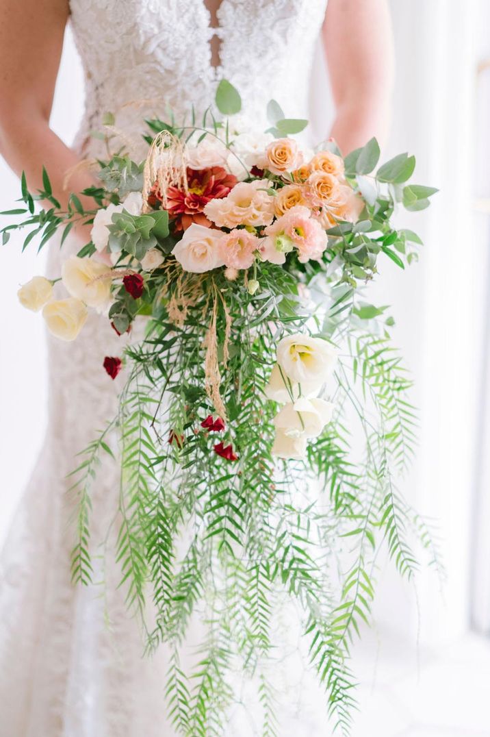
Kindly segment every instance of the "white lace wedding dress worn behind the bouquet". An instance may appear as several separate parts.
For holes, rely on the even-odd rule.
[[[116,125],[132,142],[139,141],[143,117],[164,118],[166,104],[177,116],[189,112],[191,103],[202,113],[221,77],[241,92],[242,117],[253,128],[266,124],[272,97],[288,116],[307,117],[325,10],[326,0],[223,0],[216,29],[220,66],[214,67],[204,0],[71,0],[87,91],[77,150],[97,156],[99,142],[88,133],[105,111],[116,113]],[[146,102],[135,105],[141,100]],[[49,276],[59,276],[59,259],[59,249],[52,247]],[[0,560],[1,737],[174,734],[164,704],[165,653],[141,657],[139,627],[117,588],[120,573],[108,528],[119,489],[117,464],[109,459],[92,489],[99,584],[74,587],[70,581],[74,531],[66,475],[77,463],[75,454],[114,414],[124,377],[112,382],[102,360],[122,354],[123,344],[97,315],[74,343],[49,339],[46,442]],[[324,696],[298,666],[295,647],[279,657],[279,734],[325,736]],[[245,696],[237,694],[237,700]],[[251,737],[260,733],[258,725],[253,707],[237,704],[225,734]]]

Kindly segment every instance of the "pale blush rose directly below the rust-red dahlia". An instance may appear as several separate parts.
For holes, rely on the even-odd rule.
[[[220,256],[220,231],[192,223],[172,251],[184,271],[200,274],[224,265]]]

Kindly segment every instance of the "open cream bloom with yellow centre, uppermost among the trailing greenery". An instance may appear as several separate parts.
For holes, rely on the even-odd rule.
[[[277,363],[284,374],[298,383],[323,383],[332,374],[337,350],[322,338],[295,333],[279,340]]]

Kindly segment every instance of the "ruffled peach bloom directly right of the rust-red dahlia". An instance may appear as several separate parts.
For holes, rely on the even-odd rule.
[[[269,195],[267,181],[239,182],[224,198],[207,203],[204,214],[218,228],[267,226],[274,217],[274,198]]]

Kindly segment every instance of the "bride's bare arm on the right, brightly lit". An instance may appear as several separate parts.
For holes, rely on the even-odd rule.
[[[388,0],[329,0],[323,45],[336,106],[331,136],[344,154],[372,136],[384,142],[394,76]]]

